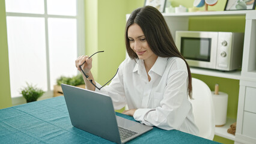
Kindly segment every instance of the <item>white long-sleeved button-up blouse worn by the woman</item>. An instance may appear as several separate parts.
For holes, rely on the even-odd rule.
[[[137,62],[136,62],[137,61]],[[198,134],[192,105],[188,100],[186,63],[181,58],[158,57],[148,71],[144,61],[125,59],[108,86],[97,92],[109,95],[114,108],[137,109],[133,115],[142,124],[164,130],[180,130]],[[100,87],[99,83],[96,83]]]

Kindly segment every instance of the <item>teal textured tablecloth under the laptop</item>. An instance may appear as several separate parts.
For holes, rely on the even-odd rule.
[[[134,119],[117,113],[118,116]],[[64,97],[0,110],[0,143],[112,143],[72,126]],[[128,143],[216,143],[177,130],[153,130]]]

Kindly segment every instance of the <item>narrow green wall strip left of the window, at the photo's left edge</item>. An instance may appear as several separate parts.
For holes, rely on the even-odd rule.
[[[11,106],[5,1],[0,1],[0,109]]]

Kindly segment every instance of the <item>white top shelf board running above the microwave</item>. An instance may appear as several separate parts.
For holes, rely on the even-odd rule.
[[[189,13],[162,13],[163,16],[231,16],[231,15],[246,15],[256,10],[241,10],[241,11],[200,11],[200,12],[189,12]]]

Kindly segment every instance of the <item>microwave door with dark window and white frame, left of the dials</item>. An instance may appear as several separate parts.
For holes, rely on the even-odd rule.
[[[180,52],[191,67],[216,68],[218,34],[215,32],[184,34],[180,37]],[[217,35],[217,37],[215,37]]]

